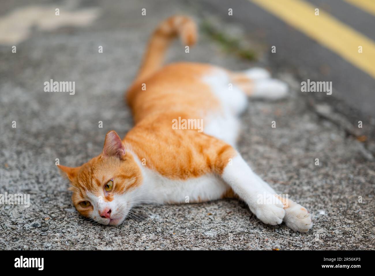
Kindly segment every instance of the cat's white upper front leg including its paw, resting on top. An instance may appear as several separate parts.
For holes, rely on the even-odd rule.
[[[221,176],[262,222],[277,225],[283,221],[285,210],[282,200],[264,186],[240,154],[229,160]]]

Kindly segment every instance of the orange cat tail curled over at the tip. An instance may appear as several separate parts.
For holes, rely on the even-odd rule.
[[[162,66],[165,51],[177,36],[183,45],[194,45],[198,36],[195,22],[189,17],[174,15],[160,23],[151,36],[134,83],[149,77]]]

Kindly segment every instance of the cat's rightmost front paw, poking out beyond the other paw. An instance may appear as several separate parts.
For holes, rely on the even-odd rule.
[[[289,228],[301,233],[306,233],[312,228],[311,214],[300,204],[285,208],[284,221]]]

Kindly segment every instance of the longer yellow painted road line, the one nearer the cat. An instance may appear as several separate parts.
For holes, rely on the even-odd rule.
[[[375,78],[375,42],[303,0],[249,0]],[[287,37],[286,37],[287,39]],[[358,52],[362,46],[363,52]],[[308,54],[308,53],[306,53]]]

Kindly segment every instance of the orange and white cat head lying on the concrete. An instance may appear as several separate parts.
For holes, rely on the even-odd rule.
[[[132,154],[114,130],[105,136],[103,151],[82,166],[58,166],[65,174],[73,192],[72,201],[83,216],[105,225],[124,221],[134,190],[141,184],[142,175]]]

